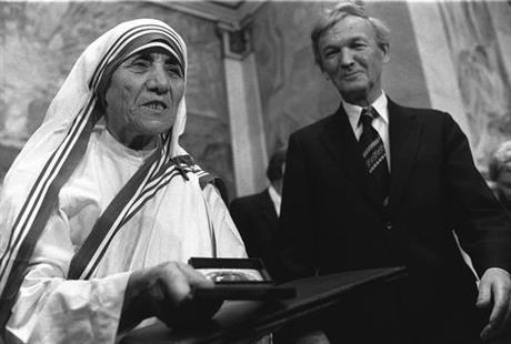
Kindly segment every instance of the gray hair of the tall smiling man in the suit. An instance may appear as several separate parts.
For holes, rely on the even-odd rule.
[[[384,49],[390,43],[390,30],[380,19],[369,17],[362,1],[341,2],[332,9],[327,10],[315,22],[312,32],[312,49],[314,51],[315,63],[322,69],[321,54],[319,51],[320,38],[333,26],[348,16],[354,16],[365,19],[374,29],[375,40],[380,49]]]

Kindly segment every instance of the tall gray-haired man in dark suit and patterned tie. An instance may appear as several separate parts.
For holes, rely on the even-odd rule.
[[[510,318],[511,223],[465,135],[448,113],[404,108],[384,93],[389,31],[360,4],[337,6],[311,38],[341,104],[290,136],[281,273],[407,266],[392,312],[357,300],[349,316],[325,318],[333,343],[467,344],[501,335]]]

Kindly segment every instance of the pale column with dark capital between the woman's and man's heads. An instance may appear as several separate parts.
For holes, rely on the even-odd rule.
[[[237,196],[261,191],[267,185],[268,163],[255,59],[249,26],[220,23],[223,41],[232,160]]]

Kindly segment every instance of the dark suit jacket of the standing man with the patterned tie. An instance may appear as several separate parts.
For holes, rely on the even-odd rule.
[[[281,273],[289,280],[404,265],[409,277],[395,303],[398,325],[410,341],[451,343],[467,332],[477,337],[485,315],[474,307],[474,275],[451,230],[480,274],[491,266],[510,271],[510,220],[449,114],[389,100],[389,136],[388,209],[371,193],[342,107],[290,136],[279,235]]]

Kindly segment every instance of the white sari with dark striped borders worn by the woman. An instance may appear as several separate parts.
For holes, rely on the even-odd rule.
[[[171,40],[186,71],[184,42],[170,27],[151,19],[119,24],[80,55],[6,175],[0,292],[3,305],[16,301],[12,315],[4,313],[9,342],[113,343],[130,271],[190,256],[246,256],[217,189],[201,185],[208,173],[179,145],[184,97],[153,152],[133,152],[94,127],[93,90],[104,67],[148,32]],[[101,235],[89,235],[92,229]],[[87,245],[93,250],[80,255]]]

